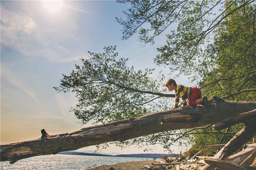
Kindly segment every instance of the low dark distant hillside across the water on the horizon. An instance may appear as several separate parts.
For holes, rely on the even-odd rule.
[[[74,152],[74,151],[65,151],[60,152],[58,154],[65,155],[84,155],[84,156],[111,156],[111,157],[130,157],[130,158],[152,158],[156,157],[156,159],[161,158],[163,155],[172,156],[172,154],[160,154],[160,153],[139,153],[139,154],[122,154],[122,155],[105,155],[99,153],[84,153],[84,152]]]

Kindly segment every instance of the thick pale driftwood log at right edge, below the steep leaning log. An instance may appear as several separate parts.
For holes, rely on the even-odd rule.
[[[235,155],[229,156],[225,161],[236,164],[236,165],[240,165],[255,150],[256,150],[256,144],[249,144],[246,149],[236,153]]]

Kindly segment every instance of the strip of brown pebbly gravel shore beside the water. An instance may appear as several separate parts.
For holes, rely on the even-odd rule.
[[[154,160],[129,161],[129,162],[117,163],[113,165],[96,166],[89,170],[109,170],[111,167],[113,167],[115,170],[141,170],[141,168],[144,168],[145,165],[150,166],[153,162],[155,161]]]

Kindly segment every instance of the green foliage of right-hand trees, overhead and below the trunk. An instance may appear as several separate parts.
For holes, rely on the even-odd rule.
[[[167,43],[158,48],[161,54],[156,56],[156,64],[169,66],[171,74],[178,71],[176,76],[191,75],[208,98],[217,94],[226,100],[256,99],[255,1],[118,2],[132,4],[124,12],[126,20],[116,18],[124,28],[123,39],[138,31],[138,41],[153,44],[157,35],[167,32]],[[173,29],[175,24],[178,26]],[[243,125],[234,126],[228,131],[242,128]],[[205,133],[210,131],[213,132],[211,127],[198,129],[199,134],[183,139],[199,148],[232,137]],[[169,142],[172,141],[175,140],[170,137]],[[170,146],[164,144],[166,148]],[[210,154],[208,151],[203,152]]]

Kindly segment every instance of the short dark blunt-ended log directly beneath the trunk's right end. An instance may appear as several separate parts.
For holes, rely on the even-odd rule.
[[[219,123],[212,125],[212,127],[213,127],[213,129],[215,129],[215,131],[219,131],[219,130],[226,129],[230,126],[233,126],[237,123],[241,123],[244,121],[247,121],[247,122],[254,121],[255,122],[255,119],[256,119],[256,109],[254,109],[250,112],[245,112],[245,113],[241,113],[236,116],[229,117],[228,119],[225,119]]]

